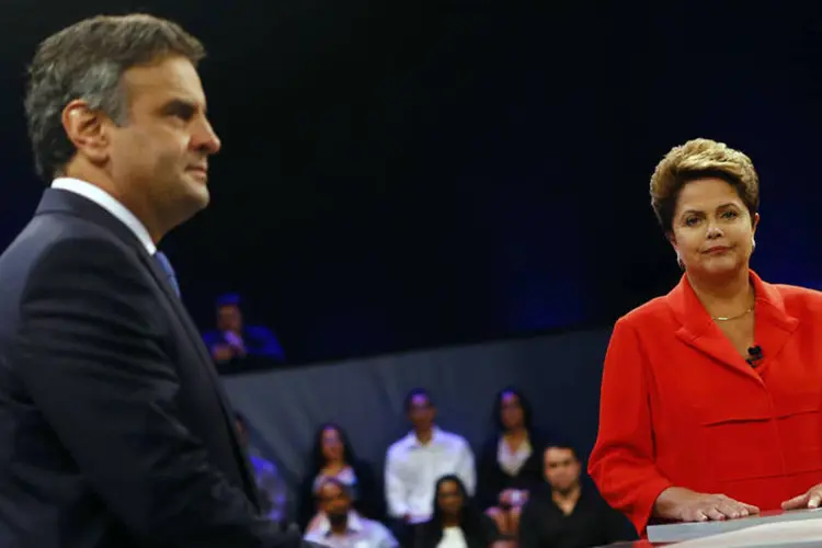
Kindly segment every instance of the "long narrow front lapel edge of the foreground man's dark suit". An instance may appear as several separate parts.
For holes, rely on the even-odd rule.
[[[241,461],[241,468],[243,478],[247,483],[247,491],[251,494],[252,502],[254,505],[260,510],[260,499],[259,499],[259,492],[256,490],[256,481],[254,479],[254,472],[251,469],[251,460],[249,458],[248,452],[246,450],[246,447],[240,443],[237,434],[237,429],[235,427],[235,419],[231,413],[231,403],[228,399],[228,396],[226,395],[225,390],[222,389],[222,383],[220,381],[219,375],[217,374],[217,369],[214,365],[214,359],[212,359],[210,354],[208,353],[208,350],[203,344],[203,340],[199,336],[199,331],[197,330],[197,327],[194,324],[194,321],[191,319],[191,316],[189,316],[189,311],[183,306],[183,302],[180,300],[180,297],[178,297],[175,289],[171,286],[169,283],[168,276],[165,272],[160,267],[160,265],[157,263],[157,261],[151,258],[148,252],[146,252],[145,249],[140,249],[140,260],[146,264],[146,266],[151,272],[151,275],[155,277],[159,286],[162,288],[163,293],[165,294],[165,297],[171,302],[171,306],[174,308],[174,311],[176,312],[178,318],[180,321],[183,322],[183,327],[185,328],[185,331],[187,332],[189,336],[192,340],[192,344],[197,349],[197,353],[199,354],[201,362],[204,365],[204,369],[208,373],[208,376],[212,378],[212,386],[214,387],[215,393],[217,396],[217,399],[220,402],[220,408],[222,410],[222,415],[227,421],[228,432],[231,436],[231,442],[235,446],[235,450],[239,455],[239,460]]]

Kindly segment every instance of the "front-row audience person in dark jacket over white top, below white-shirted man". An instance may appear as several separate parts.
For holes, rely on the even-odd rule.
[[[458,477],[439,478],[434,493],[434,515],[418,527],[414,548],[489,548],[499,539],[493,520],[471,504]]]

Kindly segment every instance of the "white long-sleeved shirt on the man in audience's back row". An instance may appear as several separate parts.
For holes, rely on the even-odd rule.
[[[386,455],[386,500],[393,517],[411,515],[412,523],[431,518],[434,489],[443,476],[456,475],[469,494],[477,484],[473,454],[464,437],[437,427],[423,445],[411,432],[393,443]]]

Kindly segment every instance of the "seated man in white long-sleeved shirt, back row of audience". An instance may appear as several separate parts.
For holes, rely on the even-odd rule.
[[[388,512],[403,545],[413,525],[431,518],[438,478],[449,473],[459,477],[469,494],[477,483],[468,442],[434,424],[436,409],[425,389],[409,392],[406,412],[413,430],[388,448],[385,471]]]

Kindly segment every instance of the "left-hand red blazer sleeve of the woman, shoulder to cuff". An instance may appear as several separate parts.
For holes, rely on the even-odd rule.
[[[589,460],[602,495],[642,536],[657,498],[672,486],[654,465],[646,365],[633,327],[620,319],[605,355],[600,432]]]

